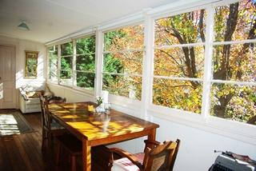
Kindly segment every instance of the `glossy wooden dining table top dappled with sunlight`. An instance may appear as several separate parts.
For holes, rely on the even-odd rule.
[[[150,121],[114,109],[106,113],[90,112],[88,105],[96,106],[90,101],[50,104],[49,111],[54,120],[76,134],[78,138],[85,138],[87,141],[106,138],[110,140],[110,138],[122,137],[122,135],[127,138],[129,134],[142,133],[159,127]]]

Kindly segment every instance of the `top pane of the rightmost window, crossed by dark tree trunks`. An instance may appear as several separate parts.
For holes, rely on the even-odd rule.
[[[216,42],[228,42],[255,38],[255,2],[243,0],[228,6],[218,6],[214,15]]]

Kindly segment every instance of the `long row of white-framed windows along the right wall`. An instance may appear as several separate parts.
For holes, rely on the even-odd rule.
[[[102,89],[118,100],[141,100],[152,90],[153,104],[143,104],[145,107],[160,113],[194,113],[182,115],[192,122],[194,118],[206,121],[207,117],[207,124],[213,126],[216,121],[229,123],[220,124],[224,129],[236,125],[234,121],[256,125],[256,3],[232,2],[211,2],[202,9],[193,7],[154,20],[154,52],[149,50],[145,58],[147,63],[154,56],[154,68],[149,69],[153,77],[145,79],[152,84],[144,87],[144,96],[144,26],[104,32],[103,42],[98,42],[103,45],[103,59],[98,62],[102,64]],[[150,22],[146,23],[149,26]],[[100,30],[97,33],[102,34]],[[94,85],[98,35],[48,48],[50,80],[79,89],[99,86]],[[198,122],[191,123],[195,124]]]

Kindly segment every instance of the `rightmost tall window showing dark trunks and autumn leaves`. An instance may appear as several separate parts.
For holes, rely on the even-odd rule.
[[[211,115],[255,124],[255,38],[255,2],[215,8]]]

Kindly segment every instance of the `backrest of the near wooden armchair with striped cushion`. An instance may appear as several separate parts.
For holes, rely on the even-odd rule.
[[[143,161],[144,171],[170,171],[174,168],[180,140],[164,141],[162,144],[150,148],[146,145]]]

